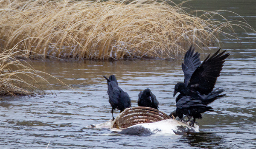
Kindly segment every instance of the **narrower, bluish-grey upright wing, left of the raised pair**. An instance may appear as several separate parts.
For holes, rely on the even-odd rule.
[[[201,61],[199,58],[200,53],[194,53],[194,51],[195,48],[191,45],[189,51],[187,51],[184,56],[184,64],[182,63],[181,65],[184,72],[184,83],[186,86],[188,85],[189,80],[196,68],[201,65]]]

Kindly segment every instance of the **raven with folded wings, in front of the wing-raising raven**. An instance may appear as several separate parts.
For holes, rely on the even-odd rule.
[[[220,95],[224,89],[217,88],[213,90],[208,95],[199,95],[200,98],[193,98],[191,96],[183,96],[176,103],[176,112],[173,112],[173,115],[177,115],[179,118],[183,118],[183,115],[186,115],[189,120],[193,117],[193,122],[191,126],[194,126],[195,119],[202,118],[201,113],[206,111],[213,111],[212,107],[207,106],[207,104],[212,101],[225,96],[226,94]],[[172,114],[172,113],[171,113]]]

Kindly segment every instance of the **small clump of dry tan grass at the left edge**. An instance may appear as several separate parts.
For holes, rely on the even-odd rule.
[[[14,48],[0,53],[0,96],[44,93],[42,84],[49,83],[27,62],[15,59],[15,55],[20,54]]]

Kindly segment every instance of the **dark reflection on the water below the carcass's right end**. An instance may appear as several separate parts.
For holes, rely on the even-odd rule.
[[[209,132],[189,133],[188,135],[184,135],[180,141],[188,143],[193,147],[204,149],[213,149],[223,144],[222,137]]]

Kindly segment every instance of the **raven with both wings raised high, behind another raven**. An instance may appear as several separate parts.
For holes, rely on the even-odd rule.
[[[192,98],[198,97],[199,94],[207,95],[212,92],[218,76],[220,76],[223,63],[225,59],[230,55],[224,54],[223,51],[219,53],[219,49],[211,57],[210,55],[204,59],[204,62],[200,62],[199,53],[194,53],[194,47],[190,47],[184,57],[184,64],[182,64],[182,70],[184,72],[184,82],[178,82],[175,85],[173,96],[180,92],[180,97],[191,96]],[[219,54],[218,54],[219,53]],[[179,98],[176,99],[179,100]]]

